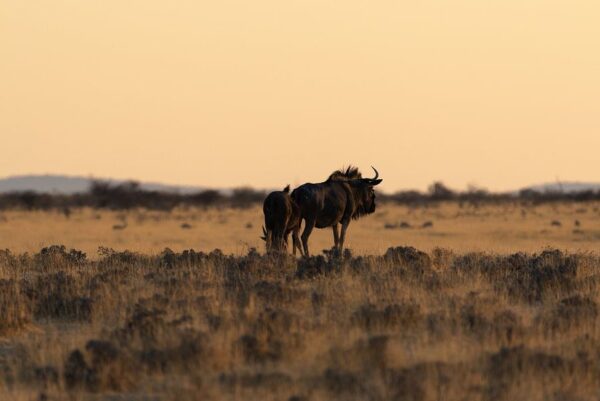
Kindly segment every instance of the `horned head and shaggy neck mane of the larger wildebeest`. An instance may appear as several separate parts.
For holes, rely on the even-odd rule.
[[[373,178],[362,178],[356,167],[348,167],[346,171],[339,170],[329,176],[329,180],[346,181],[352,188],[354,201],[356,202],[356,211],[352,215],[354,219],[375,212],[375,190],[373,187],[379,185],[383,180],[379,178],[377,169],[373,166],[371,168],[375,171],[375,177]]]

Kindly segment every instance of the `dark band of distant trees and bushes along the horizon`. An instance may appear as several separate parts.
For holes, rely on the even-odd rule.
[[[266,191],[252,188],[237,188],[230,193],[204,190],[192,194],[145,190],[137,182],[110,184],[95,181],[89,191],[72,195],[26,192],[0,194],[0,210],[69,210],[78,207],[125,210],[146,208],[172,210],[175,207],[233,207],[247,208],[262,204]],[[394,194],[378,193],[378,199],[409,205],[428,205],[441,201],[457,201],[469,204],[525,202],[532,204],[560,201],[600,201],[600,191],[539,192],[530,189],[518,193],[492,193],[484,189],[471,188],[455,191],[441,182],[433,183],[427,192],[399,191]]]

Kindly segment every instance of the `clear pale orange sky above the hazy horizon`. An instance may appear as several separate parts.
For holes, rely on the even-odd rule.
[[[0,0],[0,176],[600,180],[600,2]]]

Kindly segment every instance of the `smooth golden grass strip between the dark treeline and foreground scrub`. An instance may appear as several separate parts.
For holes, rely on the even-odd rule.
[[[561,226],[553,226],[553,221]],[[124,222],[124,229],[113,229]],[[411,228],[385,228],[402,222]],[[426,222],[433,226],[421,228]],[[182,228],[186,224],[189,228]],[[99,246],[144,253],[158,253],[166,247],[175,251],[219,248],[245,254],[252,247],[264,248],[259,238],[262,224],[259,207],[171,213],[83,209],[75,210],[70,218],[59,212],[8,211],[0,214],[0,238],[2,247],[14,252],[64,244],[92,257]],[[534,252],[546,246],[588,251],[597,249],[598,241],[598,203],[482,207],[446,203],[427,208],[381,205],[374,215],[351,223],[346,243],[355,254],[380,254],[390,246],[405,244],[427,251],[444,247],[460,252]],[[317,253],[332,243],[329,229],[314,230],[310,238],[311,249]]]

